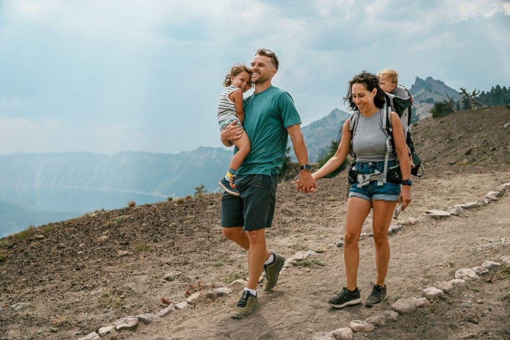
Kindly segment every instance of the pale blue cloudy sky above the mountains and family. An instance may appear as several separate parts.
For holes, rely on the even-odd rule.
[[[0,154],[220,146],[222,79],[259,47],[303,123],[362,69],[508,86],[509,18],[502,1],[0,0]]]

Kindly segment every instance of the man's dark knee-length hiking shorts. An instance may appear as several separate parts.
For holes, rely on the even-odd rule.
[[[246,231],[271,227],[277,184],[277,174],[236,176],[240,196],[223,193],[221,226],[243,227]]]

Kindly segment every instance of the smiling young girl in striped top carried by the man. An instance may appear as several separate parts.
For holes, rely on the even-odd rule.
[[[250,69],[242,64],[235,64],[230,72],[225,76],[223,86],[225,87],[218,99],[218,124],[220,131],[233,121],[243,127],[243,93],[251,88]],[[244,129],[244,128],[243,128]],[[219,182],[220,187],[227,193],[239,196],[239,190],[236,188],[237,169],[241,166],[244,159],[250,152],[250,141],[246,132],[240,139],[232,141],[239,151],[233,156],[228,171]]]

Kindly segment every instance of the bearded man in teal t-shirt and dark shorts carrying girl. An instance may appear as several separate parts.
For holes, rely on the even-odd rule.
[[[317,188],[310,173],[308,152],[299,126],[301,119],[294,102],[287,92],[271,85],[277,71],[278,58],[274,52],[259,49],[251,63],[255,93],[244,100],[244,129],[251,151],[237,171],[236,186],[240,196],[224,193],[221,200],[223,236],[248,251],[248,283],[231,311],[233,318],[244,318],[257,307],[256,289],[262,270],[266,272],[264,291],[270,291],[284,265],[282,255],[267,250],[265,230],[271,227],[278,172],[289,135],[301,165],[298,190],[309,193]],[[232,146],[231,141],[241,135],[241,127],[233,122],[221,133],[221,141],[225,146]]]

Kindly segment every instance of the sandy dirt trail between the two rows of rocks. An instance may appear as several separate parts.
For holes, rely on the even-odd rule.
[[[313,265],[309,271],[305,267],[291,267],[283,272],[273,292],[260,292],[260,306],[249,318],[233,320],[228,317],[228,311],[238,299],[237,295],[230,295],[217,303],[199,305],[160,323],[139,327],[127,338],[310,338],[317,331],[345,327],[350,320],[365,319],[374,312],[389,309],[396,295],[418,296],[420,287],[451,279],[456,269],[472,268],[479,266],[484,259],[508,255],[508,242],[495,242],[481,250],[476,250],[476,246],[488,244],[488,240],[510,238],[509,207],[510,196],[506,195],[496,203],[469,211],[466,217],[405,227],[391,237],[392,257],[387,280],[389,299],[381,306],[367,309],[358,305],[337,310],[325,303],[345,282],[343,250],[334,247],[317,256],[326,263],[324,267]],[[323,241],[328,243],[327,239]],[[369,284],[375,279],[371,238],[360,242],[360,255],[359,286],[362,296],[366,297],[370,292]],[[508,290],[508,280],[485,284]],[[485,296],[489,301],[483,307],[491,307],[492,311],[476,327],[504,338],[505,334],[509,335],[504,333],[504,329],[510,326],[508,319],[504,318],[509,304],[501,302],[503,293],[497,293],[499,302],[496,296]],[[454,308],[466,309],[461,304],[448,307],[450,311]],[[406,318],[414,318],[407,320],[415,323],[412,332]],[[458,338],[466,331],[461,316],[457,320],[453,317],[453,324],[457,323],[456,327],[453,325],[454,329],[451,318],[439,319],[420,326],[422,322],[417,317],[401,317],[399,322],[406,325],[405,329],[394,325],[378,332],[381,336],[385,334],[386,338],[426,339]],[[376,334],[366,336],[378,338]],[[365,335],[356,334],[356,338],[363,337]]]

